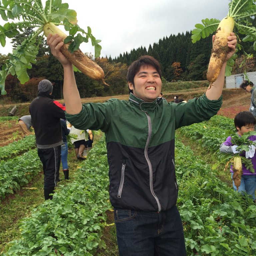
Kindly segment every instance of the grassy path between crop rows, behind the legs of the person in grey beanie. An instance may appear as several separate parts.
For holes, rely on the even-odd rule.
[[[102,132],[94,134],[94,144],[102,136]],[[86,161],[86,160],[84,160]],[[77,166],[80,165],[80,161],[77,160],[75,150],[73,147],[69,148],[68,165],[69,165],[69,181],[64,180],[64,174],[62,172],[62,165],[60,166],[60,183],[72,182],[73,173],[76,171]],[[15,194],[7,196],[2,200],[0,204],[0,254],[6,252],[9,249],[8,243],[15,239],[19,239],[19,221],[22,218],[30,216],[30,213],[34,208],[44,202],[44,176],[41,172],[36,176],[29,184],[22,187]],[[28,189],[36,188],[36,189]],[[58,189],[58,187],[56,188]],[[111,255],[111,254],[110,254]]]

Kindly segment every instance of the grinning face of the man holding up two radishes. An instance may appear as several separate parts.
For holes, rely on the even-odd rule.
[[[137,98],[152,102],[161,92],[162,81],[153,67],[142,66],[134,77],[134,86],[131,82],[128,85]]]

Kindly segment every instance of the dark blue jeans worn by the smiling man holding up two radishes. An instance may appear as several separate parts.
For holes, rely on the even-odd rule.
[[[114,209],[119,256],[185,256],[177,206],[165,212]]]

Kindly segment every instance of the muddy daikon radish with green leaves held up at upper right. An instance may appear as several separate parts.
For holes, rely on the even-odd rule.
[[[226,61],[228,53],[227,36],[233,32],[236,34],[239,31],[239,35],[243,35],[243,42],[253,42],[254,51],[256,50],[256,28],[252,26],[252,21],[256,15],[255,1],[249,0],[232,0],[230,1],[227,17],[221,21],[217,19],[204,19],[202,24],[196,24],[195,29],[192,30],[192,43],[199,41],[201,38],[206,38],[210,34],[215,33],[215,40],[213,43],[211,58],[208,66],[207,80],[210,83],[210,87],[213,82],[216,81],[223,63]],[[241,50],[243,47],[239,44],[241,37],[238,38],[237,49]],[[247,54],[249,57],[252,54]],[[225,76],[230,76],[232,66],[234,65],[234,54],[231,59],[227,61],[225,70]]]

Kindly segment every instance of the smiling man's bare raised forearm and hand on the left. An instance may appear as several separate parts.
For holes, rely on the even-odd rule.
[[[58,35],[49,34],[47,44],[52,55],[61,63],[64,69],[63,96],[68,114],[77,114],[82,109],[81,98],[76,86],[72,63],[60,52],[63,45],[62,38]]]

